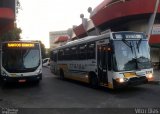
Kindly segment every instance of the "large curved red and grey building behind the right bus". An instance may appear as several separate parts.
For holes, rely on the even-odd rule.
[[[71,40],[88,35],[98,35],[108,29],[111,31],[138,31],[149,37],[152,62],[160,66],[160,4],[151,34],[150,22],[153,20],[157,0],[104,0],[93,10],[89,9],[90,19],[82,16],[82,23],[70,30]]]

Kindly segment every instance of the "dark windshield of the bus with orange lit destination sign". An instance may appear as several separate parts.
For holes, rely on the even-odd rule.
[[[5,48],[2,66],[10,73],[33,72],[40,64],[39,48]]]

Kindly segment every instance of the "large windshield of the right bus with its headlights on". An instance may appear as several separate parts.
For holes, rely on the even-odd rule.
[[[151,68],[149,45],[147,40],[114,41],[115,64],[118,71]]]

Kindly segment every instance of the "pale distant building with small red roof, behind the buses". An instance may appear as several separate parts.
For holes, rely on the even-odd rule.
[[[68,41],[69,36],[67,34],[67,31],[53,31],[49,33],[49,39],[50,49],[53,49]]]

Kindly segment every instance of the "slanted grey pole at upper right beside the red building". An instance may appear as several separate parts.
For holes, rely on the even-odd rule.
[[[154,12],[151,15],[150,20],[149,20],[148,31],[147,31],[148,41],[150,39],[150,35],[151,35],[151,32],[152,32],[152,28],[153,28],[154,21],[155,21],[155,18],[156,18],[156,14],[157,14],[157,11],[158,11],[159,3],[160,3],[160,0],[157,0],[156,4],[155,4],[155,7],[154,7]]]

